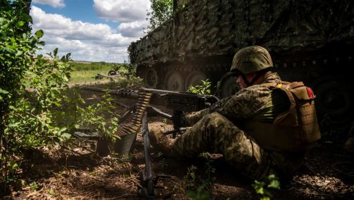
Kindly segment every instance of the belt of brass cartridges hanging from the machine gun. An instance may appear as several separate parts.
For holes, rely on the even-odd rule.
[[[147,106],[149,106],[151,95],[152,94],[149,92],[139,91],[138,103],[136,105],[133,119],[131,119],[129,123],[124,124],[123,128],[118,131],[118,135],[136,134],[136,132],[140,130],[142,115],[145,110],[147,110]]]

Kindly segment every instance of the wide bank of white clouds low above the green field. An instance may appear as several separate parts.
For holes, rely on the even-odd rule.
[[[121,62],[127,59],[127,47],[140,34],[128,34],[138,27],[133,23],[123,25],[118,33],[103,23],[73,21],[60,14],[48,14],[32,6],[32,29],[44,30],[44,50],[50,52],[59,48],[59,53],[71,52],[74,60]]]

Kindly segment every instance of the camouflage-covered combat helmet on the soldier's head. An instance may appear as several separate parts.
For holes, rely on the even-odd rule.
[[[268,50],[261,46],[248,46],[236,52],[230,71],[250,74],[272,67],[273,62]]]

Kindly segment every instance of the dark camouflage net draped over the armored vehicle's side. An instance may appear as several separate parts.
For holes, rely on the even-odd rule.
[[[173,18],[131,43],[129,57],[135,66],[153,66],[187,57],[232,55],[254,44],[281,52],[353,43],[353,4],[351,0],[178,1]]]

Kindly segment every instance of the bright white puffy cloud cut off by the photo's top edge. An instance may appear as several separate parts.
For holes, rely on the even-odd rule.
[[[147,0],[93,0],[93,8],[98,17],[120,23],[146,21],[151,10]]]

